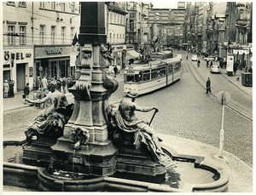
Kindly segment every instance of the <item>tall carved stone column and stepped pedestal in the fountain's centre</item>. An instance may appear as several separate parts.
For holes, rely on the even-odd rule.
[[[165,180],[166,169],[154,162],[146,146],[136,149],[128,143],[117,148],[108,137],[111,130],[108,129],[106,111],[108,98],[117,89],[118,83],[108,78],[105,72],[109,66],[104,55],[104,45],[107,43],[106,9],[107,3],[81,3],[80,65],[77,66],[73,85],[69,87],[74,95],[73,115],[63,130],[63,136],[52,142],[51,146],[45,146],[48,152],[46,156],[37,151],[38,147],[29,152],[45,157],[45,168],[49,165],[51,169],[86,175],[115,174],[131,179],[139,175],[145,181],[161,182]],[[34,161],[37,162],[37,159]]]

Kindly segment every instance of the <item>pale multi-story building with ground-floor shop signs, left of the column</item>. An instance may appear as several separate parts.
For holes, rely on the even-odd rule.
[[[16,92],[38,76],[72,75],[79,21],[79,2],[3,2],[3,80],[13,79]]]

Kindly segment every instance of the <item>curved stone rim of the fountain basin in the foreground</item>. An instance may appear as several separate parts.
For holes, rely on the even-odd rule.
[[[19,146],[20,143],[20,141],[4,141],[3,145]],[[168,146],[163,146],[163,149],[172,156],[173,160],[192,163],[195,169],[211,172],[212,175],[218,175],[218,180],[206,183],[184,183],[182,188],[174,188],[166,184],[124,179],[113,175],[88,175],[81,180],[64,180],[49,175],[49,172],[45,168],[4,161],[3,185],[21,186],[35,189],[39,192],[224,192],[227,189],[229,175],[227,175],[224,169],[207,163],[202,157],[179,154]],[[14,159],[14,162],[15,160],[19,159]]]

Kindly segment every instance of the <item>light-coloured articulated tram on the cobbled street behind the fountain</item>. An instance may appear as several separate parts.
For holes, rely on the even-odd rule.
[[[147,94],[176,82],[182,76],[180,58],[148,61],[125,68],[124,93]]]

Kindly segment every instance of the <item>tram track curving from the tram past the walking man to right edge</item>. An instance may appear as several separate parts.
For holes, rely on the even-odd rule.
[[[189,66],[189,62],[187,60],[183,60],[183,62],[186,64],[189,71],[192,73],[193,77],[195,77],[195,80],[198,83],[200,83],[203,88],[206,89],[205,85],[207,82],[207,78],[203,77],[200,72],[197,72],[195,69],[195,66]],[[215,98],[217,98],[218,92],[222,91],[222,89],[218,89],[218,87],[215,85],[213,85],[211,89],[212,89],[211,95]],[[245,106],[242,106],[236,100],[230,99],[229,104],[227,104],[226,106],[230,108],[232,111],[242,115],[243,117],[253,122],[253,112],[249,111]]]

